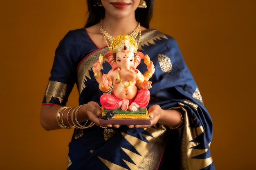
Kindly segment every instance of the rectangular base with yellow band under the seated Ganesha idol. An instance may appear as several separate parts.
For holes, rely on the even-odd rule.
[[[101,124],[124,124],[124,125],[150,125],[147,108],[138,108],[137,111],[122,111],[121,109],[108,110],[101,107],[102,115],[99,118]],[[109,119],[101,119],[105,113],[114,111],[115,115]]]

